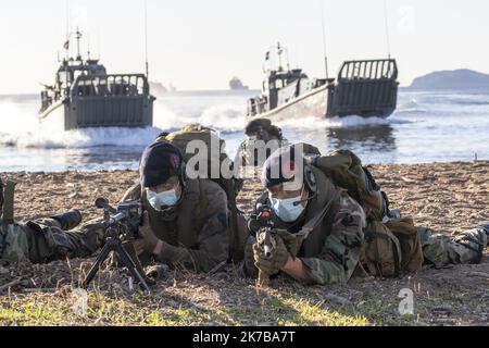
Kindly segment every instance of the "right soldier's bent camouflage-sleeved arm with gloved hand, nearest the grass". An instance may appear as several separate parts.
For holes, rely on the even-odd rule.
[[[306,283],[326,285],[348,282],[359,263],[365,224],[362,207],[344,194],[321,254],[317,258],[289,260],[283,271]]]

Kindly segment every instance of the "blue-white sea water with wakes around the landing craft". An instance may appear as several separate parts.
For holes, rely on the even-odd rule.
[[[187,91],[156,96],[154,126],[65,132],[62,114],[39,122],[38,96],[0,96],[0,172],[137,169],[161,132],[199,122],[216,129],[234,157],[244,136],[247,99],[259,91]],[[351,149],[364,163],[489,160],[489,90],[400,90],[388,119],[301,115],[277,126],[292,142],[323,152]]]

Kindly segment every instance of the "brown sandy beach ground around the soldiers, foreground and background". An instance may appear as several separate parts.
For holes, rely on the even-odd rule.
[[[389,164],[373,165],[371,170],[378,184],[388,194],[391,208],[400,209],[404,215],[412,215],[418,225],[427,225],[444,234],[456,234],[465,228],[474,227],[479,222],[489,221],[489,162]],[[88,220],[101,214],[93,207],[97,197],[103,196],[112,203],[116,203],[126,188],[138,179],[138,174],[135,171],[16,172],[2,173],[2,177],[18,183],[15,196],[15,213],[18,220],[35,219],[70,209],[80,209],[84,212],[84,219]],[[239,204],[249,212],[260,192],[259,182],[248,181],[239,196]],[[62,301],[59,303],[57,298],[70,298],[70,286],[76,283],[90,261],[72,260],[59,261],[50,265],[1,268],[1,284],[15,279],[18,282],[11,289],[13,294],[17,294],[14,304],[12,304],[12,298],[8,300],[5,297],[0,297],[3,298],[0,300],[2,306],[0,308],[3,308],[0,324],[18,324],[18,321],[22,323],[26,320],[25,313],[15,319],[15,316],[5,316],[4,311],[14,306],[22,312],[23,306],[33,298],[54,307],[68,306],[70,303],[62,304]],[[103,277],[110,277],[112,281],[124,279],[118,274],[121,272],[103,271],[101,273]],[[273,282],[272,288],[265,291],[254,290],[252,281],[239,278],[236,270],[229,268],[221,275],[181,273],[167,275],[156,285],[158,290],[150,297],[147,310],[151,311],[163,306],[168,309],[168,315],[174,318],[172,308],[181,308],[181,306],[196,311],[199,315],[206,313],[215,306],[223,309],[239,307],[241,309],[239,314],[215,314],[209,318],[196,314],[195,320],[188,324],[277,324],[274,316],[277,314],[274,311],[260,314],[259,309],[263,308],[263,301],[279,299],[283,304],[287,303],[287,306],[284,304],[286,309],[281,309],[285,311],[281,314],[284,318],[288,318],[287,310],[290,310],[290,315],[300,312],[298,306],[302,304],[298,303],[312,306],[321,302],[321,308],[326,311],[338,310],[343,315],[352,315],[352,318],[365,315],[369,324],[487,325],[489,324],[488,284],[487,251],[481,264],[456,265],[443,270],[424,268],[417,275],[400,279],[352,279],[348,285],[303,287],[279,277]],[[121,285],[120,289],[122,287]],[[397,294],[402,287],[415,290],[418,306],[417,315],[405,321],[396,314],[399,302]],[[164,296],[161,297],[163,293]],[[124,294],[124,291],[120,293],[116,299],[120,300],[121,296],[125,298]],[[116,300],[105,293],[97,296],[109,297],[106,301]],[[347,302],[341,303],[342,300],[339,300],[340,303],[338,303],[338,298]],[[126,302],[129,303],[130,300],[126,299]],[[352,309],[347,310],[346,307]],[[126,320],[128,322],[125,324],[138,324],[136,320],[135,322],[131,322],[131,319]],[[29,320],[26,321],[24,324],[29,324]],[[91,316],[60,319],[60,323],[64,324],[87,324],[93,321]],[[319,324],[328,324],[319,319],[317,321]],[[39,322],[34,320],[34,323]],[[300,322],[306,325],[314,323],[315,320]],[[110,315],[106,318],[102,315],[97,324],[117,323],[114,323]]]

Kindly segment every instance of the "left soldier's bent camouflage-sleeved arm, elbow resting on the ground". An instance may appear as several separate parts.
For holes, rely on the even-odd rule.
[[[199,234],[197,248],[175,247],[167,243],[161,244],[158,259],[162,262],[184,264],[198,272],[209,272],[229,256],[229,223],[227,197],[221,188],[206,191],[206,222]]]

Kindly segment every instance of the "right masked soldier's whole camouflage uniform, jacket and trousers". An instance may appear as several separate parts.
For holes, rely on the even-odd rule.
[[[318,184],[317,197],[309,201],[302,219],[293,223],[284,223],[273,215],[274,227],[298,233],[325,207],[338,190],[330,179],[318,169],[312,166]],[[258,203],[267,203],[268,194],[264,192]],[[322,224],[316,226],[305,240],[300,241],[298,258],[308,269],[311,283],[326,285],[347,283],[359,265],[360,250],[364,239],[365,213],[362,207],[348,194],[342,192]],[[423,244],[425,263],[442,266],[449,263],[477,263],[482,250],[488,246],[489,223],[466,231],[454,238],[432,234],[427,227],[417,228]],[[249,274],[255,270],[250,237],[247,245],[246,268]]]

